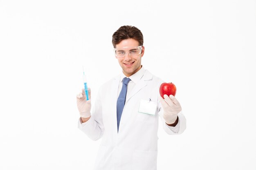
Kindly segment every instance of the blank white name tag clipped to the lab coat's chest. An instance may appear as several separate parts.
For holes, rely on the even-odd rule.
[[[150,102],[150,100],[141,99],[139,104],[139,112],[146,113],[155,116],[155,110],[157,109],[157,104],[155,102]]]

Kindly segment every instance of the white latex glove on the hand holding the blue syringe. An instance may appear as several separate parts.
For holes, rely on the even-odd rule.
[[[82,89],[82,93],[80,92],[76,95],[76,104],[79,110],[80,116],[87,118],[91,115],[91,89],[88,88],[88,97],[89,100],[86,100],[85,89]]]

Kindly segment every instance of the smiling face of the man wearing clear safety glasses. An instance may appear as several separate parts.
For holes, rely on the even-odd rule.
[[[116,49],[121,49],[128,46],[139,46],[139,42],[132,38],[122,40],[119,44],[116,45]],[[127,48],[127,51],[125,52],[128,51],[129,48]],[[141,53],[139,55],[130,56],[129,53],[126,53],[124,57],[116,57],[119,62],[119,65],[123,69],[124,75],[130,77],[131,75],[139,71],[139,69],[141,68],[141,57],[143,57],[143,55],[144,46],[142,46]]]

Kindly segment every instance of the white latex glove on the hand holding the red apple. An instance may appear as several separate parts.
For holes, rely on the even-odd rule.
[[[158,98],[164,110],[164,121],[166,124],[173,124],[177,119],[178,113],[181,111],[180,103],[173,95],[170,95],[170,97],[168,97],[168,95],[164,95],[164,99],[161,96]]]

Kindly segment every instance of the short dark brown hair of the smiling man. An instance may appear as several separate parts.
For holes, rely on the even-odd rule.
[[[139,29],[135,26],[121,26],[113,35],[112,35],[112,44],[114,48],[122,40],[128,38],[135,39],[139,42],[139,46],[143,45],[143,35]]]

